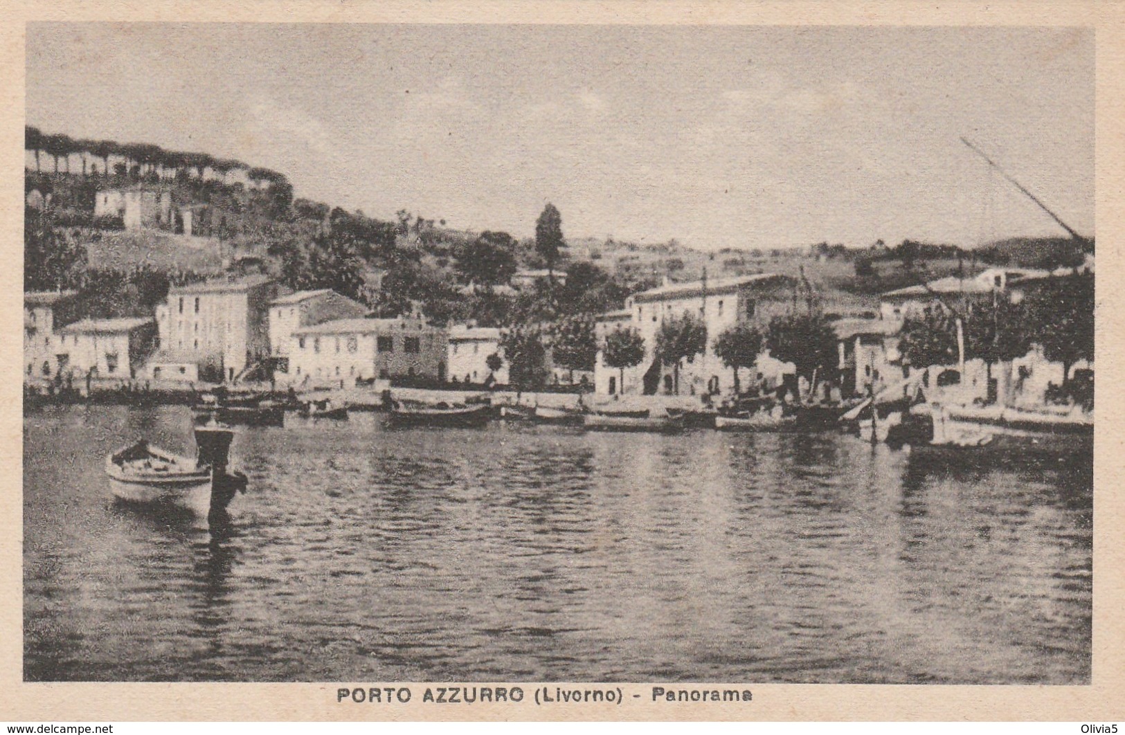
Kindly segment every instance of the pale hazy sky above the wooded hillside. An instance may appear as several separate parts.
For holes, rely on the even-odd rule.
[[[1094,234],[1094,31],[30,24],[27,124],[297,197],[710,251]]]

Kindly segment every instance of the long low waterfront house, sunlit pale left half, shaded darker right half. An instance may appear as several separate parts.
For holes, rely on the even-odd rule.
[[[446,381],[448,333],[420,315],[336,319],[295,329],[286,382],[303,387],[357,381]]]

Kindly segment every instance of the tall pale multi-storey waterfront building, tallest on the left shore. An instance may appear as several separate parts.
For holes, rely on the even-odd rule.
[[[266,275],[173,287],[156,307],[160,352],[148,373],[162,379],[234,381],[270,354],[269,307],[277,284]],[[196,366],[196,378],[181,372]],[[181,378],[177,378],[181,376]]]

